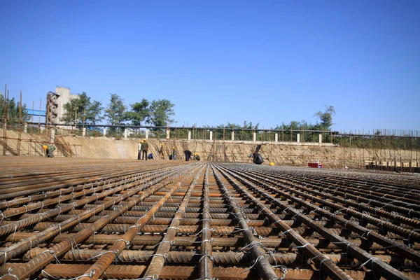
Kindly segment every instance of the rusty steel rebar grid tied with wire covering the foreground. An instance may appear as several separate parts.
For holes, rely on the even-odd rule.
[[[420,277],[414,176],[4,159],[2,279]]]

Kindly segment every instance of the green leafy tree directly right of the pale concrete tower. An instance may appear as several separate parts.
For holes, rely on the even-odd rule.
[[[77,98],[70,99],[70,102],[64,104],[64,114],[61,120],[64,123],[70,123],[71,120],[71,123],[81,125],[84,117],[85,125],[95,125],[104,118],[101,116],[102,110],[104,110],[102,102],[90,102],[90,97],[86,92],[82,92],[78,94]]]

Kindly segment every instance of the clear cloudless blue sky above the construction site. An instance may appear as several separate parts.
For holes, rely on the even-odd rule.
[[[0,90],[169,99],[178,125],[420,130],[420,1],[2,1]]]

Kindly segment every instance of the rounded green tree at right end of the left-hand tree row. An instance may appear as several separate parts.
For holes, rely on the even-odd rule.
[[[174,122],[171,116],[174,116],[174,104],[167,99],[153,100],[150,106],[150,115],[148,116],[146,123],[150,123],[155,127],[164,127],[167,123]]]

